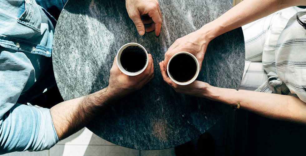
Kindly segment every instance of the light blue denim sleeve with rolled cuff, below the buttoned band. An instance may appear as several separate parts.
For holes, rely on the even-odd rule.
[[[58,142],[48,109],[16,104],[35,73],[25,53],[0,46],[0,154],[50,149]]]

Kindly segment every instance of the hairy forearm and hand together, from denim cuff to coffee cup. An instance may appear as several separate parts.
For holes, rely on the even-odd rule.
[[[90,95],[64,101],[50,109],[58,139],[64,139],[84,127],[100,112],[116,104],[122,97],[141,89],[153,78],[153,59],[149,54],[149,64],[138,76],[123,74],[116,63],[111,67],[109,85]]]

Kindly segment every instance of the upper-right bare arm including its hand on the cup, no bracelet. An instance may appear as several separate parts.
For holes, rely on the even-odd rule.
[[[199,30],[178,38],[166,51],[164,66],[167,67],[174,54],[180,51],[188,51],[198,59],[201,67],[208,43],[215,37],[294,5],[306,5],[306,1],[244,0],[216,20],[205,24]]]

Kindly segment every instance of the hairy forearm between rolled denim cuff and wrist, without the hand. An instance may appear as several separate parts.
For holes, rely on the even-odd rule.
[[[75,133],[99,113],[116,103],[120,97],[114,96],[109,88],[80,98],[67,100],[50,109],[53,124],[59,140]]]

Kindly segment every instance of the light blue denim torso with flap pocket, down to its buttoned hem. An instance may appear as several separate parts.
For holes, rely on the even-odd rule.
[[[56,20],[35,0],[0,4],[0,46],[51,57]]]

